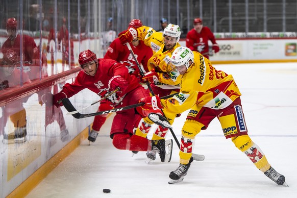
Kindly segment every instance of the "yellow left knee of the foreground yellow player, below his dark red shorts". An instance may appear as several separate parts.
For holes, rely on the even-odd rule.
[[[202,123],[192,119],[187,119],[182,128],[182,136],[189,139],[194,139],[203,127],[204,125]]]

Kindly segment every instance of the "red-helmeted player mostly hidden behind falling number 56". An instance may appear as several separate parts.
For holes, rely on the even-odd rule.
[[[139,19],[133,19],[129,23],[129,27],[133,27],[135,29],[143,26],[142,21]],[[149,46],[146,46],[143,41],[138,40],[137,38],[132,41],[132,50],[137,57],[138,63],[141,63],[143,70],[146,72],[147,69],[147,61],[152,57],[153,51]],[[126,45],[122,45],[119,38],[116,38],[110,46],[108,47],[107,53],[104,56],[105,59],[112,59],[121,64],[125,65],[130,73],[130,75],[139,78],[139,69],[138,66],[130,54],[130,51]],[[112,109],[114,106],[110,104],[109,100],[104,100],[100,102],[100,107],[98,111]],[[97,115],[94,118],[92,130],[89,134],[88,140],[94,142],[98,133],[103,126],[104,122],[106,121],[108,114],[105,115]],[[139,115],[138,120],[141,119]],[[137,123],[138,126],[138,123]],[[142,129],[140,129],[142,130]]]

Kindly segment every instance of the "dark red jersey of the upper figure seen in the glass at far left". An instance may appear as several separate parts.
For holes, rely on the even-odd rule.
[[[36,46],[34,39],[28,35],[22,36],[22,61],[34,62],[33,59],[39,59],[39,50]],[[2,45],[1,52],[5,54],[9,49],[16,52],[16,54],[20,55],[20,35],[14,39],[12,43],[8,38]]]

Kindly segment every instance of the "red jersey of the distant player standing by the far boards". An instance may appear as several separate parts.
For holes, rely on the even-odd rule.
[[[209,54],[208,40],[215,44],[213,33],[208,27],[203,27],[201,33],[197,33],[195,29],[190,30],[186,36],[186,47],[191,51],[199,52],[203,56]]]

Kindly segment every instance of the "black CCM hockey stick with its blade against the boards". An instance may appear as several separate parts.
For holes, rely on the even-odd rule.
[[[173,97],[175,94],[176,93],[166,95],[164,97],[161,97],[161,99],[167,99],[167,98]],[[69,112],[77,111],[76,108],[73,107],[73,105],[69,101],[69,98],[63,98],[62,103],[63,103],[64,107],[67,109],[67,111],[69,111]],[[95,113],[88,113],[88,114],[81,114],[78,112],[78,113],[72,114],[72,116],[77,119],[80,119],[80,118],[91,117],[91,116],[96,116],[96,115],[104,115],[104,114],[108,114],[108,113],[114,113],[114,112],[123,111],[123,110],[127,110],[127,109],[133,109],[135,107],[139,107],[142,105],[144,105],[144,103],[138,103],[138,104],[130,105],[130,106],[126,106],[126,107],[119,107],[119,108],[115,108],[115,109],[111,109],[111,110],[107,110],[107,111],[98,111]]]

